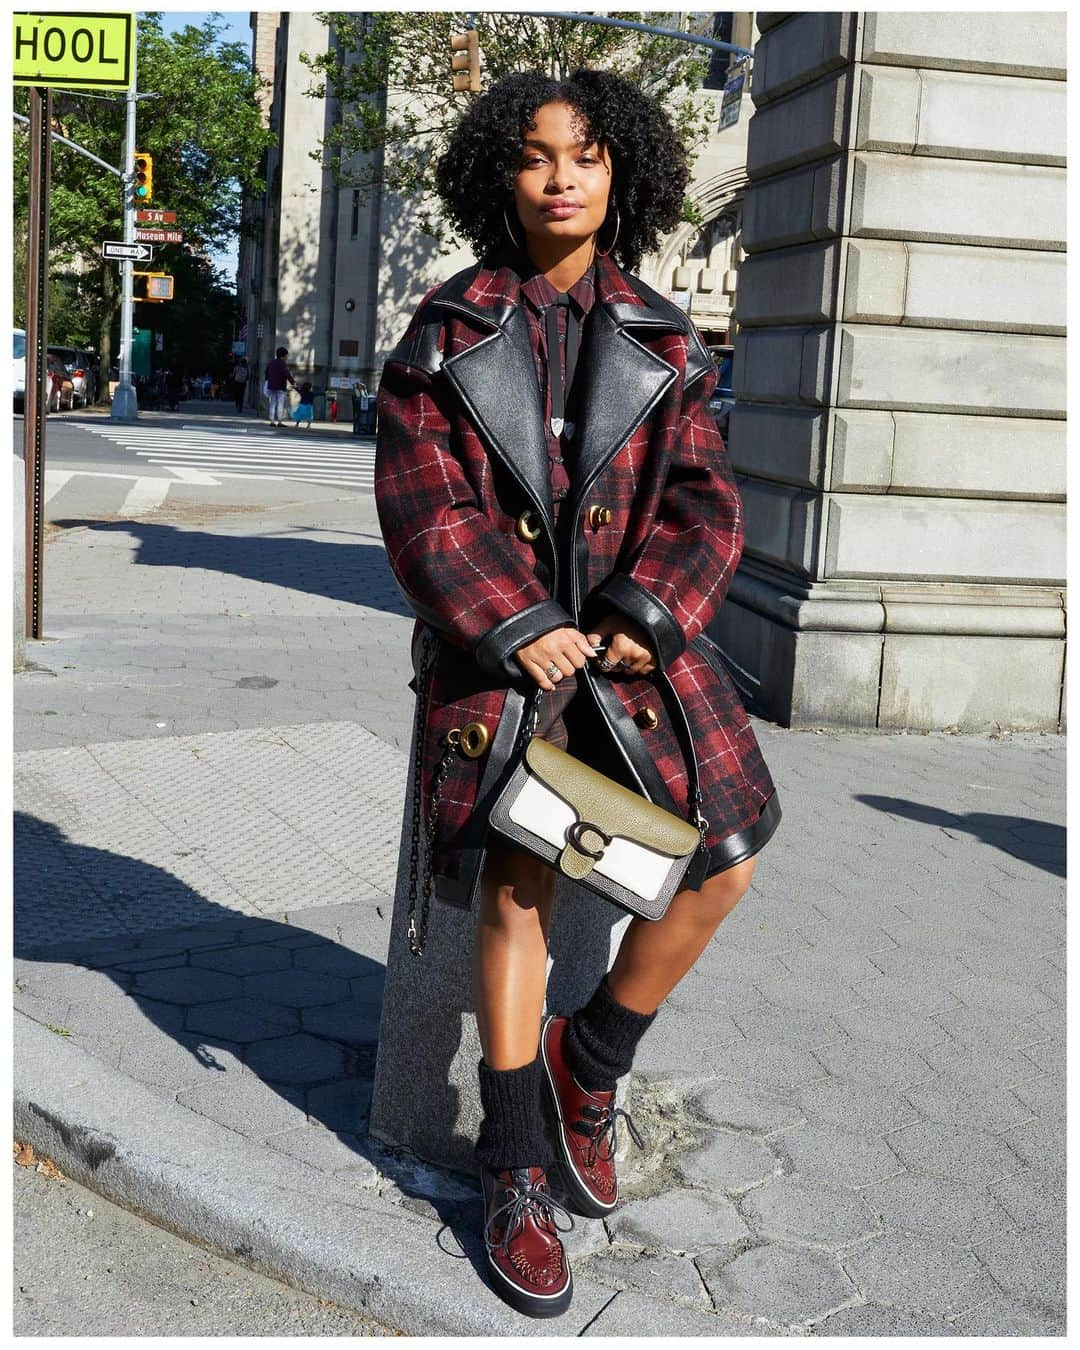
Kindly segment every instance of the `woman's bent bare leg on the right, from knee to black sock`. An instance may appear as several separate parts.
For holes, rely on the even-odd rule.
[[[655,1013],[747,894],[757,856],[679,891],[662,919],[630,921],[608,973],[613,996],[634,1013]]]

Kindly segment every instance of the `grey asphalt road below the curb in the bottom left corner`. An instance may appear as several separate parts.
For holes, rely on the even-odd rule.
[[[397,1334],[204,1251],[32,1162],[14,1173],[16,1336]]]

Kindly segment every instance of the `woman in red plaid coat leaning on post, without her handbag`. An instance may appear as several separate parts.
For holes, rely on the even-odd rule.
[[[437,165],[481,262],[424,296],[378,393],[375,498],[418,620],[420,806],[429,819],[437,779],[439,895],[478,910],[489,1261],[500,1295],[535,1316],[572,1292],[544,1094],[568,1203],[609,1214],[617,1080],[780,818],[703,636],[742,548],[709,412],[716,371],[682,310],[629,271],[676,225],[687,178],[667,116],[632,84],[597,70],[500,81]],[[707,876],[663,919],[630,921],[583,1008],[541,1022],[555,876],[497,846],[487,814],[539,688],[540,734],[686,817],[657,670],[694,733]],[[410,938],[417,950],[414,926]]]

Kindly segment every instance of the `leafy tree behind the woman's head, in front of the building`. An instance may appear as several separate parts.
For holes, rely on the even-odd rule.
[[[464,31],[466,15],[335,11],[316,18],[331,28],[332,40],[327,51],[301,57],[315,77],[306,92],[333,96],[340,112],[315,158],[332,169],[339,184],[359,189],[362,200],[377,186],[418,198],[421,230],[450,252],[459,240],[433,202],[433,165],[474,97],[455,93],[451,78],[450,36]],[[682,27],[675,14],[612,18]],[[475,23],[485,85],[514,70],[539,69],[556,78],[578,66],[610,70],[663,103],[691,162],[703,144],[710,109],[693,93],[709,69],[709,49],[528,14],[477,14]],[[684,219],[701,224],[688,200]]]

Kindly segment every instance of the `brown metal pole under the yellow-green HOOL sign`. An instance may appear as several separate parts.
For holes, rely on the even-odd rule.
[[[30,250],[26,275],[26,636],[42,636],[45,562],[45,377],[49,344],[49,182],[53,169],[53,90],[30,89]]]

